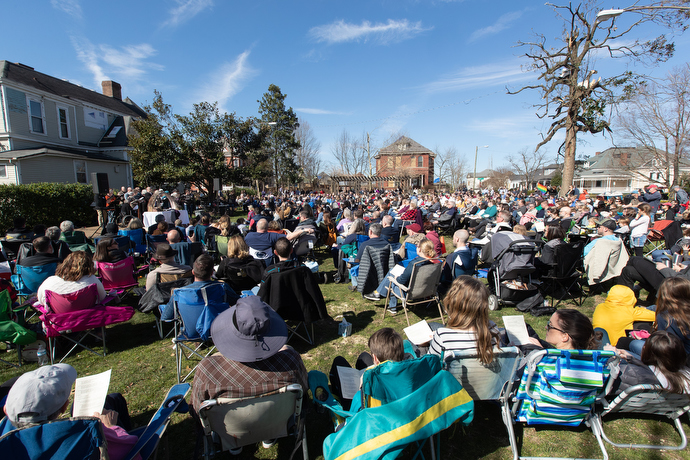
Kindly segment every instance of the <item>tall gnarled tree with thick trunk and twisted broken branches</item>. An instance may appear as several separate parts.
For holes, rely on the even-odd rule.
[[[662,23],[668,28],[682,28],[687,15],[679,14],[679,11],[687,9],[681,7],[685,4],[687,0],[656,0],[645,5],[636,2],[624,9],[620,22],[626,24],[625,21],[633,15],[636,15],[636,20],[619,28],[616,16],[620,10],[597,17],[600,8],[595,0],[565,6],[547,3],[563,21],[563,34],[558,38],[561,43],[551,45],[542,34],[538,34],[533,41],[518,43],[529,47],[525,54],[531,61],[527,70],[537,72],[539,83],[517,91],[508,90],[508,93],[536,90],[541,95],[540,102],[535,104],[537,116],[553,120],[535,150],[550,142],[556,133],[565,130],[565,142],[559,148],[564,158],[561,195],[573,182],[578,133],[596,134],[610,130],[605,118],[606,106],[615,103],[626,86],[635,79],[627,70],[618,75],[595,78],[597,70],[590,67],[595,62],[590,53],[600,52],[614,58],[647,63],[667,60],[673,54],[674,45],[667,42],[664,35],[642,42],[630,39],[628,34],[638,25],[649,21]]]

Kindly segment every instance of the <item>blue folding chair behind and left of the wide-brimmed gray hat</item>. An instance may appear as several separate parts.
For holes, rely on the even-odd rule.
[[[219,301],[218,299],[223,299]],[[218,314],[230,306],[224,302],[225,290],[221,283],[213,283],[202,288],[179,288],[172,291],[175,306],[175,363],[177,383],[184,382],[191,376],[199,363],[182,376],[182,357],[187,360],[192,356],[204,359],[216,349],[211,338],[211,323]],[[161,305],[164,307],[164,305]],[[201,323],[201,324],[199,324]],[[206,347],[206,353],[200,350]]]

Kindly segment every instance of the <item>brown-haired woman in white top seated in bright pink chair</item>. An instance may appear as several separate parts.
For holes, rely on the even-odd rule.
[[[95,276],[91,256],[84,251],[75,251],[58,265],[55,275],[48,277],[38,288],[38,301],[46,304],[46,291],[56,294],[70,294],[95,284],[98,288],[98,301],[105,299],[106,293],[101,280]]]

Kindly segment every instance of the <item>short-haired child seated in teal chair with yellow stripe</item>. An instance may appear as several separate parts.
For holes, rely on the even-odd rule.
[[[355,369],[371,369],[385,361],[398,362],[403,359],[405,359],[405,344],[402,336],[390,327],[384,327],[374,332],[371,337],[369,337],[369,352],[365,351],[359,355],[355,363]],[[331,370],[328,373],[331,391],[338,397],[343,409],[356,412],[362,408],[361,381],[360,391],[358,391],[352,399],[344,398],[340,385],[338,367],[351,368],[352,366],[342,356],[336,356],[331,365]]]

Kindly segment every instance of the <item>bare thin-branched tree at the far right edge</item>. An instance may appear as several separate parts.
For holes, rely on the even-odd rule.
[[[690,143],[690,65],[675,68],[658,83],[639,85],[618,120],[625,138],[649,152],[648,161],[660,174],[660,182],[667,187],[678,184],[680,162]]]

